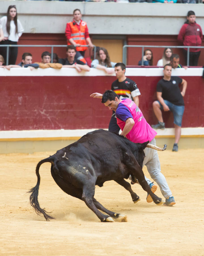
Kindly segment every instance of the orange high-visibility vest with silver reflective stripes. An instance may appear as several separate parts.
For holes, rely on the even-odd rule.
[[[71,27],[71,38],[75,41],[76,44],[86,45],[85,39],[85,31],[86,31],[86,22],[81,21],[80,30],[78,30],[78,26],[73,25],[73,21],[69,22]],[[70,45],[70,42],[67,41],[67,45]],[[87,47],[76,47],[76,51],[86,51]]]

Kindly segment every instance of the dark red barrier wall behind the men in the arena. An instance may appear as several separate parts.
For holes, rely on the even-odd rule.
[[[140,89],[139,107],[146,120],[157,123],[152,102],[156,99],[156,84],[162,77],[128,77]],[[188,82],[182,127],[203,127],[203,78],[182,78]],[[116,79],[113,76],[1,76],[0,79],[0,130],[108,127],[111,111],[100,99],[89,95],[110,89]],[[172,113],[165,113],[164,121],[166,127],[173,127]]]

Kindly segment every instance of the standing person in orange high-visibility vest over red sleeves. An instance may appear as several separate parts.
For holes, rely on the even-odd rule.
[[[90,47],[93,47],[94,45],[89,37],[86,22],[81,20],[81,11],[79,9],[75,9],[73,11],[73,15],[73,21],[67,23],[65,30],[67,44],[73,44],[76,47],[76,51],[80,51],[81,55],[84,56],[84,52],[86,51],[87,47],[83,45],[88,45]]]

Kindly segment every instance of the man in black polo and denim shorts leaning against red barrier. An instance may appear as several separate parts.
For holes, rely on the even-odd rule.
[[[183,97],[186,92],[187,82],[180,77],[171,77],[171,64],[164,66],[164,77],[157,84],[157,101],[154,101],[152,106],[154,114],[158,119],[158,124],[152,125],[154,129],[164,129],[165,123],[162,118],[162,110],[172,111],[174,116],[175,127],[175,143],[172,151],[178,151],[178,142],[181,135],[181,123],[184,112]],[[182,85],[180,91],[179,84]]]

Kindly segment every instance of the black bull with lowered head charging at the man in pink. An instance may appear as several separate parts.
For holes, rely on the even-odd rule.
[[[105,130],[87,133],[75,143],[37,164],[37,184],[29,190],[31,206],[37,214],[42,213],[46,220],[53,218],[40,208],[37,198],[40,185],[39,168],[45,162],[52,164],[51,174],[58,186],[65,193],[83,200],[102,222],[126,221],[126,216],[107,210],[94,198],[95,185],[102,187],[107,180],[114,180],[123,186],[130,192],[133,202],[137,202],[139,197],[124,180],[131,175],[150,194],[156,205],[162,204],[162,199],[150,190],[142,171],[144,148],[147,144],[148,141],[142,144],[133,143]]]

